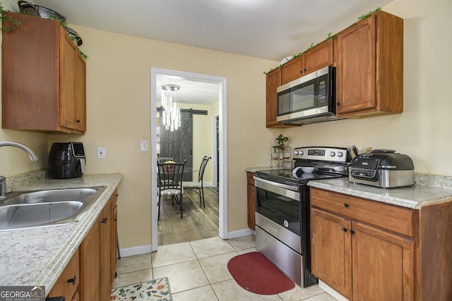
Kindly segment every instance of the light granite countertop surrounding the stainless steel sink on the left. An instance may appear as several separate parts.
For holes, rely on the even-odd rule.
[[[13,190],[107,188],[76,223],[0,232],[0,285],[44,285],[49,293],[122,177],[120,173],[112,173],[66,180],[31,178],[8,183]]]

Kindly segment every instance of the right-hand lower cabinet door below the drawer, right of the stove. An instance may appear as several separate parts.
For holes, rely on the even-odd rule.
[[[415,242],[353,223],[353,300],[414,300]]]

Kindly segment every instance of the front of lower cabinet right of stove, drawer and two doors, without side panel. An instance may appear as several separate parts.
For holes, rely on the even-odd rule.
[[[311,207],[315,276],[350,300],[415,300],[413,210],[316,189]]]

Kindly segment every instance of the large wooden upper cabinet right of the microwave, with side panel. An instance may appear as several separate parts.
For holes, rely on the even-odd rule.
[[[336,112],[362,118],[403,111],[403,19],[380,11],[338,33]]]

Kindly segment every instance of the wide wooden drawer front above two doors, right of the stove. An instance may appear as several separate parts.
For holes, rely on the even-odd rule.
[[[311,206],[396,233],[414,235],[415,211],[359,197],[311,188]]]

